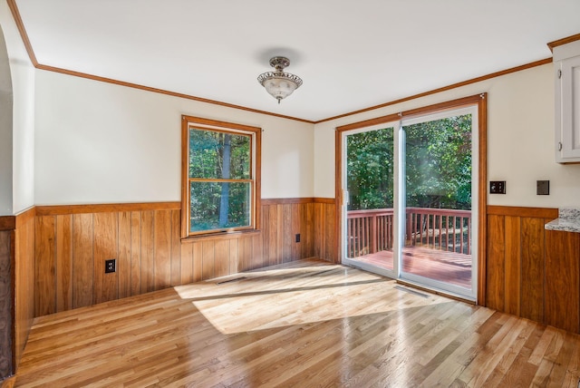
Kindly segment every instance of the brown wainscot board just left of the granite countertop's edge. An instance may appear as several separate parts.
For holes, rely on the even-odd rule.
[[[521,316],[544,321],[544,251],[543,218],[521,218]]]

